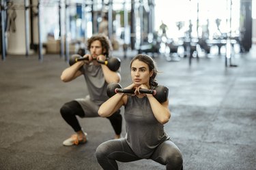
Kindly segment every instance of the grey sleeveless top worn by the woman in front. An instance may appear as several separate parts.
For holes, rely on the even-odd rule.
[[[147,97],[128,96],[124,118],[126,141],[140,158],[150,158],[154,149],[169,139],[164,126],[156,120]]]

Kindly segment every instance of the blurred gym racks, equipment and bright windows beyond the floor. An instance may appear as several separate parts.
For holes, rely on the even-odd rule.
[[[248,52],[256,42],[255,0],[1,0],[1,58],[83,54],[104,16],[117,52],[190,56]]]

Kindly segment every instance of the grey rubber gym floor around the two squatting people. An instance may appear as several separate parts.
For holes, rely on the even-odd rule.
[[[130,83],[130,57],[122,58],[122,86]],[[158,83],[169,88],[171,120],[165,124],[183,154],[184,169],[256,169],[256,49],[233,56],[155,58]],[[97,146],[113,138],[106,118],[79,119],[85,145],[65,147],[73,131],[59,114],[66,101],[87,94],[83,78],[63,83],[68,67],[59,55],[7,56],[0,61],[0,169],[100,169]],[[122,114],[123,113],[122,109]],[[125,134],[125,125],[123,133]],[[165,169],[152,160],[119,163],[119,169]]]

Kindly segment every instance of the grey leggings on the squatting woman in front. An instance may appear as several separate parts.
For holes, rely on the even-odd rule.
[[[96,150],[96,157],[100,166],[107,170],[118,169],[116,160],[128,163],[143,159],[134,154],[124,138],[101,143]],[[150,159],[166,165],[167,169],[183,169],[182,153],[171,140],[162,142],[150,156]]]

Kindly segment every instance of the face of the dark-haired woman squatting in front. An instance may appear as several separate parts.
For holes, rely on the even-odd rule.
[[[130,74],[132,77],[132,82],[136,85],[145,84],[149,86],[150,84],[150,76],[152,75],[152,71],[146,63],[143,61],[139,61],[138,59],[132,62]]]

